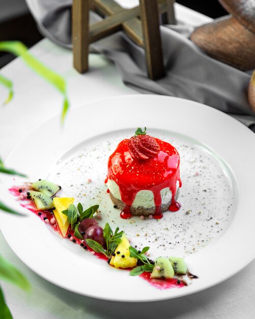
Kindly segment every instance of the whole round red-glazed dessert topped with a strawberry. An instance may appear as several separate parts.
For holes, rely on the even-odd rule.
[[[137,128],[135,135],[119,143],[108,159],[105,180],[112,202],[131,215],[161,218],[176,211],[181,187],[180,156],[175,147]]]

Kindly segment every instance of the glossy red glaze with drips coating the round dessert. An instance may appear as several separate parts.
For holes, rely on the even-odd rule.
[[[160,151],[154,158],[141,161],[132,158],[128,151],[128,140],[123,140],[117,146],[108,160],[108,179],[114,180],[119,185],[121,200],[126,204],[123,211],[130,214],[136,194],[141,190],[153,192],[156,206],[155,215],[157,219],[162,218],[161,194],[164,188],[172,192],[171,210],[178,210],[180,205],[175,201],[177,181],[179,187],[180,179],[180,156],[171,144],[156,139]],[[123,215],[122,215],[123,217]]]

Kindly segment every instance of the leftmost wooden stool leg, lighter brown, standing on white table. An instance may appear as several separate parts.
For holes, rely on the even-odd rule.
[[[90,0],[73,0],[73,66],[80,73],[87,72],[89,68],[89,12]]]

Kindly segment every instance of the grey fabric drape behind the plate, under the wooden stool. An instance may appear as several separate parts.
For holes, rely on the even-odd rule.
[[[71,48],[71,3],[64,0],[26,0],[43,35]],[[92,20],[100,19],[92,13]],[[142,93],[177,96],[228,113],[255,131],[255,114],[247,100],[250,75],[205,55],[187,35],[188,26],[161,26],[166,76],[147,77],[144,50],[124,33],[91,46],[115,62],[123,82]]]

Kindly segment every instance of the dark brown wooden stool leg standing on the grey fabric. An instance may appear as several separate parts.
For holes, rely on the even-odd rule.
[[[140,11],[148,75],[151,79],[158,79],[164,76],[165,70],[157,0],[140,0]]]

